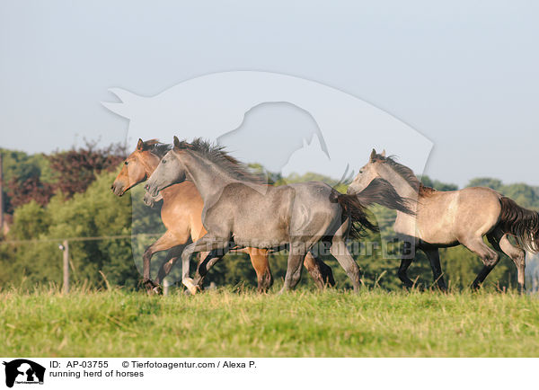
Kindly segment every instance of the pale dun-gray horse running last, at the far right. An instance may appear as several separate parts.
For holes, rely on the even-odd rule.
[[[480,287],[499,261],[499,253],[484,244],[482,237],[486,235],[496,251],[506,253],[515,262],[518,286],[520,290],[524,289],[524,249],[533,253],[539,250],[539,214],[521,208],[514,200],[485,187],[459,191],[436,191],[425,187],[410,168],[386,157],[385,152],[376,154],[374,149],[348,191],[361,191],[377,178],[392,183],[402,197],[418,200],[415,215],[397,211],[393,227],[397,234],[427,254],[439,288],[445,290],[446,284],[438,248],[458,244],[463,244],[482,259],[484,267],[473,281],[473,288]],[[509,235],[516,237],[520,247],[509,242]],[[411,261],[402,259],[398,273],[407,287],[412,286],[407,275]]]

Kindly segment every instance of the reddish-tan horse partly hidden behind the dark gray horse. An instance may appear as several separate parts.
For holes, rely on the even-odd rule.
[[[121,172],[110,187],[111,190],[116,195],[122,196],[133,186],[146,181],[146,178],[154,172],[163,155],[171,147],[158,143],[156,140],[143,142],[142,139],[139,139],[137,149],[124,162]],[[161,219],[167,230],[154,244],[148,246],[143,255],[144,283],[149,290],[156,289],[163,282],[163,278],[170,272],[185,246],[190,244],[190,240],[195,242],[206,234],[201,220],[204,205],[199,191],[192,182],[172,185],[161,191],[159,198],[163,198]],[[148,199],[145,201],[147,203]],[[150,278],[152,256],[166,250],[170,250],[167,253],[166,261],[163,262],[157,273],[157,278],[153,281]],[[243,251],[251,257],[252,267],[257,275],[259,292],[267,291],[273,282],[268,252],[256,248],[245,248]],[[315,258],[312,253],[307,253],[305,256],[305,268],[319,288],[323,288],[326,284],[335,284],[331,268]],[[202,279],[200,279],[201,282]]]

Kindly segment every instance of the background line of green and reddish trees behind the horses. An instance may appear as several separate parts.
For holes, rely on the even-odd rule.
[[[72,279],[75,283],[100,288],[105,284],[104,275],[112,285],[141,288],[137,268],[141,267],[142,253],[164,228],[159,207],[147,208],[142,203],[142,186],[131,190],[131,197],[118,198],[110,191],[110,184],[126,155],[121,146],[98,147],[94,142],[86,142],[84,146],[51,155],[0,150],[4,157],[4,210],[13,216],[9,233],[0,241],[0,288],[59,284],[61,252],[57,247],[60,241],[56,239],[115,235],[134,238],[70,243]],[[264,171],[260,164],[252,164],[252,169]],[[346,185],[318,173],[288,177],[267,174],[275,184],[317,180],[346,191]],[[455,184],[433,181],[427,176],[420,179],[440,191],[457,189]],[[525,183],[504,184],[497,179],[478,178],[468,186],[490,187],[526,208],[539,209],[539,188]],[[392,237],[394,212],[377,207],[372,212],[381,233],[368,234],[356,243],[360,245],[356,261],[364,272],[367,286],[400,289],[402,285],[396,275],[400,261],[386,258],[381,252],[383,237],[384,240]],[[445,278],[454,288],[467,288],[482,268],[477,256],[462,246],[442,249],[440,257]],[[153,275],[163,258],[164,253],[154,256]],[[331,256],[323,256],[323,260],[331,265],[338,285],[348,286],[348,279],[337,261]],[[270,255],[276,280],[284,277],[286,264],[286,253]],[[179,278],[180,272],[176,267],[173,276]],[[419,284],[431,285],[429,261],[422,253],[417,254],[410,273]],[[254,270],[245,254],[228,254],[210,271],[209,280],[217,285],[256,285]],[[516,286],[515,280],[515,266],[504,256],[487,282],[489,288],[511,288]],[[302,283],[314,286],[306,272]]]

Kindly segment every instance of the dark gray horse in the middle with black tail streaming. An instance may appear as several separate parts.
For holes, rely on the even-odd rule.
[[[364,228],[376,231],[365,205],[379,203],[411,212],[393,187],[384,180],[372,182],[358,195],[340,194],[323,182],[267,186],[222,147],[200,139],[191,144],[174,137],[174,147],[164,155],[150,176],[146,190],[155,195],[173,183],[190,181],[204,200],[203,225],[208,231],[181,254],[182,282],[192,294],[199,278],[234,246],[280,250],[288,248],[287,274],[281,290],[295,288],[301,264],[314,244],[330,244],[330,253],[360,287],[360,270],[345,240]],[[381,196],[384,194],[384,196]],[[210,252],[190,279],[193,253]]]

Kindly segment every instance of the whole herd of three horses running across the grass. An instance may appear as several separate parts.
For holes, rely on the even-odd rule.
[[[181,257],[182,283],[195,294],[208,270],[229,251],[250,255],[258,290],[265,292],[273,282],[268,255],[284,248],[289,254],[281,291],[296,287],[302,264],[318,288],[332,286],[331,268],[313,251],[318,243],[329,246],[358,290],[361,272],[346,243],[365,229],[377,231],[367,217],[367,206],[374,203],[397,211],[395,233],[427,255],[441,290],[446,290],[446,283],[438,248],[463,244],[479,255],[483,268],[473,288],[479,288],[496,266],[499,252],[506,253],[517,266],[521,291],[525,288],[525,250],[539,252],[537,212],[489,188],[436,191],[425,187],[410,168],[374,149],[342,194],[323,182],[268,185],[223,147],[199,138],[189,143],[174,137],[173,145],[139,139],[111,190],[122,196],[145,181],[145,202],[163,200],[161,217],[167,229],[143,255],[149,292],[159,291],[163,278]],[[485,235],[495,251],[483,242]],[[152,279],[151,258],[166,250],[166,261]],[[191,279],[190,260],[195,253],[200,254],[200,261]],[[398,271],[408,288],[413,286],[407,276],[412,260],[403,258]]]

